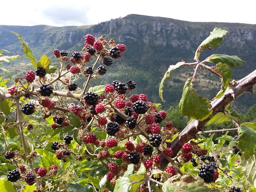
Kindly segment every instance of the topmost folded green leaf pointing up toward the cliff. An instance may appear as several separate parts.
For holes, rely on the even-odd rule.
[[[219,47],[225,35],[227,35],[226,29],[214,28],[210,35],[196,49],[195,59],[200,57],[201,51]]]

